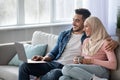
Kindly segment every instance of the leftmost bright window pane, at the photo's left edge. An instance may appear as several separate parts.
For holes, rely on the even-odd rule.
[[[16,0],[0,0],[0,26],[17,24]]]

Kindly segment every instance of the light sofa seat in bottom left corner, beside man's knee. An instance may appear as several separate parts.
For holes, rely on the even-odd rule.
[[[18,67],[8,65],[0,66],[0,79],[18,80]]]

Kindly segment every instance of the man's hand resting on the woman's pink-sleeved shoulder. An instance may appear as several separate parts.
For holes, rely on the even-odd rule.
[[[112,51],[118,46],[118,42],[115,40],[112,40],[111,38],[107,38],[108,44],[105,46],[105,49],[107,51]]]

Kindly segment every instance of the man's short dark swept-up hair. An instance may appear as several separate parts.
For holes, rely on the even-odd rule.
[[[75,9],[75,13],[82,15],[83,20],[85,20],[86,18],[88,18],[91,15],[90,11],[88,9],[85,9],[85,8]]]

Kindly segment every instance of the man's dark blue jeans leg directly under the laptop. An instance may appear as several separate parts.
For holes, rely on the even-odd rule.
[[[48,73],[52,69],[62,69],[63,65],[58,62],[47,63],[23,63],[19,67],[19,79],[18,80],[30,80],[29,75],[42,76]],[[54,75],[53,75],[54,76]]]

